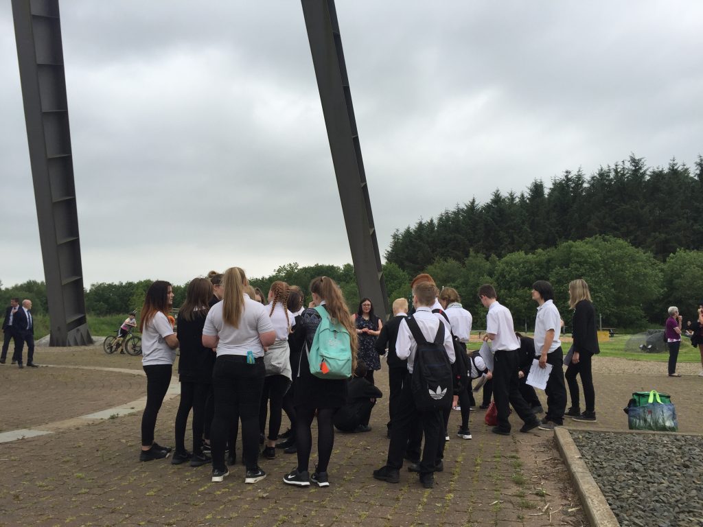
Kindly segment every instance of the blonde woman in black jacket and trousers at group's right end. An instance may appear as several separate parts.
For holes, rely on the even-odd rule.
[[[575,421],[595,421],[595,389],[593,389],[593,373],[591,358],[600,353],[598,334],[595,330],[595,308],[591,303],[591,292],[586,280],[572,280],[569,283],[569,307],[574,310],[572,332],[574,355],[567,367],[565,377],[569,385],[571,408],[565,413]],[[586,411],[581,412],[579,403],[579,383],[576,375],[581,375],[583,384],[583,399]]]

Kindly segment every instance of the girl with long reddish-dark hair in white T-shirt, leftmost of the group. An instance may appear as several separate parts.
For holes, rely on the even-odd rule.
[[[146,407],[141,417],[140,461],[168,457],[171,448],[154,441],[156,417],[171,383],[178,338],[168,313],[174,300],[169,282],[156,280],[146,292],[141,308],[141,363],[146,373]]]

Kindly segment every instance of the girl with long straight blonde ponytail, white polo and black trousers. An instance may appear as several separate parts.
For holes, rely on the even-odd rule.
[[[245,483],[266,477],[257,464],[259,454],[259,403],[264,386],[264,348],[276,341],[266,307],[244,293],[249,285],[243,269],[231,267],[222,279],[222,301],[207,313],[202,345],[217,349],[212,371],[215,415],[210,431],[212,481],[229,474],[224,462],[228,429],[242,420],[242,445],[247,465]]]

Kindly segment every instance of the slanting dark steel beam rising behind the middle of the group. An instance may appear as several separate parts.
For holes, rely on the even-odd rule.
[[[383,280],[334,0],[301,0],[359,294],[385,320]]]

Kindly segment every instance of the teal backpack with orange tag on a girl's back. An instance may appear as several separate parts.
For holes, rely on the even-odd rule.
[[[324,306],[316,307],[315,311],[322,320],[308,352],[310,373],[320,379],[349,379],[352,377],[349,332],[340,323],[333,323]]]

